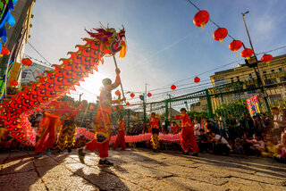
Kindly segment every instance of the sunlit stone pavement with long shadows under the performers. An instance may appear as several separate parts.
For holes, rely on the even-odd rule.
[[[33,152],[0,153],[0,190],[286,190],[286,164],[249,156],[147,149],[110,151],[114,167],[97,154],[81,164],[72,154],[35,160]]]

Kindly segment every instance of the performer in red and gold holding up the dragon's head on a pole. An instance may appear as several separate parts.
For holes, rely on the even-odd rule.
[[[96,131],[95,139],[88,142],[85,147],[78,149],[78,155],[81,163],[84,163],[84,157],[87,150],[93,152],[97,149],[100,157],[98,162],[99,165],[114,165],[113,162],[109,162],[106,159],[106,157],[108,157],[108,146],[112,128],[110,119],[111,106],[112,104],[117,104],[125,100],[125,97],[123,97],[121,100],[112,100],[111,91],[118,87],[121,83],[119,77],[120,70],[116,69],[115,72],[116,79],[113,84],[111,79],[104,79],[102,81],[104,87],[100,88],[99,103],[94,126]]]

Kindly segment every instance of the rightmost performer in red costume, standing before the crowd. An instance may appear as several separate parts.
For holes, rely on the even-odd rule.
[[[189,149],[191,148],[194,152],[193,156],[198,156],[198,144],[194,134],[194,125],[191,123],[186,109],[181,108],[181,115],[175,115],[173,118],[181,120],[181,148],[183,154],[189,154]]]

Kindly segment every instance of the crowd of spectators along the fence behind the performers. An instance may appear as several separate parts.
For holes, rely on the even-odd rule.
[[[247,154],[273,158],[285,162],[286,151],[286,108],[273,107],[273,117],[266,113],[256,113],[255,116],[243,115],[239,119],[227,115],[226,118],[217,114],[214,119],[193,120],[194,134],[197,137],[201,153],[210,154]],[[37,131],[41,113],[29,116],[31,127]],[[180,121],[173,120],[167,125],[159,124],[160,132],[164,134],[178,134],[181,132]],[[92,129],[90,120],[77,122],[78,127]],[[126,136],[151,133],[151,129],[143,122],[131,123],[126,127]],[[113,126],[112,134],[117,135],[117,128]],[[85,145],[87,140],[80,137],[76,140],[75,147]],[[180,150],[176,143],[161,143],[163,149]],[[130,144],[129,146],[150,147],[150,143]],[[32,150],[33,147],[21,145],[7,129],[0,123],[0,150],[24,149]]]

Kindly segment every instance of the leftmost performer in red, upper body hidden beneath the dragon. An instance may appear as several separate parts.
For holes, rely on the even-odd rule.
[[[46,154],[51,154],[51,148],[55,144],[55,135],[61,127],[60,116],[56,114],[51,114],[49,111],[44,112],[44,118],[39,124],[35,153],[37,156],[35,158],[40,158],[43,152],[46,150]],[[46,139],[46,136],[47,139]]]

